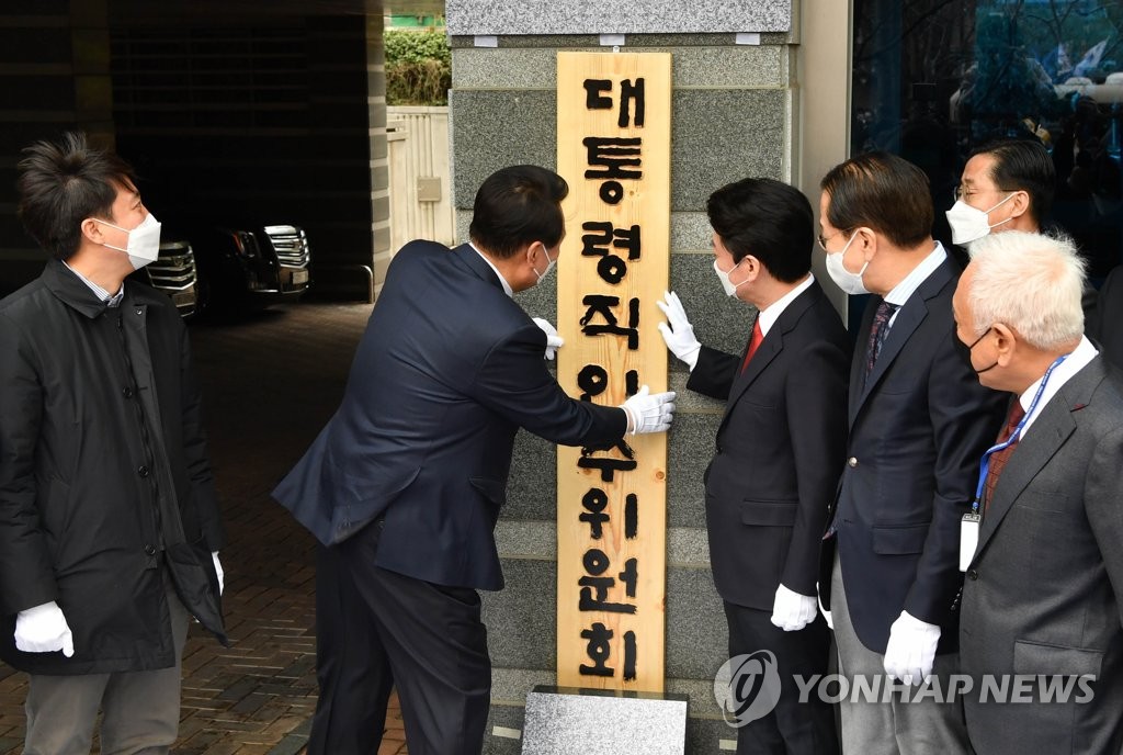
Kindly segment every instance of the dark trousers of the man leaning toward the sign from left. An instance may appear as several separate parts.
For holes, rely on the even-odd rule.
[[[410,755],[478,755],[491,702],[480,595],[378,568],[381,522],[317,548],[309,755],[378,751],[396,686]]]

